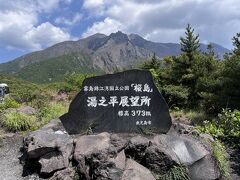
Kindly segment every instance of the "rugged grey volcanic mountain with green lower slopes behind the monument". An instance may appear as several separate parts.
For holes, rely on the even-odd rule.
[[[207,45],[201,44],[206,52]],[[214,51],[221,58],[228,49],[214,44]],[[111,73],[132,68],[153,54],[163,58],[179,55],[180,44],[156,43],[137,34],[121,31],[106,36],[94,34],[79,41],[66,41],[45,50],[32,52],[0,64],[0,73],[15,74],[25,80],[48,82],[61,80],[66,72]]]

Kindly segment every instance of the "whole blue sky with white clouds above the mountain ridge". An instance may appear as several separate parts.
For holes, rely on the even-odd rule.
[[[232,48],[237,0],[0,0],[0,63],[55,43],[121,30],[179,42],[187,23],[201,42]]]

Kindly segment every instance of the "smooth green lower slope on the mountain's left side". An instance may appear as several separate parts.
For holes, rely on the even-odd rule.
[[[17,76],[35,83],[60,82],[64,76],[72,73],[103,74],[100,69],[93,68],[89,55],[83,53],[63,55],[47,61],[33,63],[21,69]]]

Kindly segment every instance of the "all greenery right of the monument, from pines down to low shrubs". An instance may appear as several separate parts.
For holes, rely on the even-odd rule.
[[[211,44],[207,52],[200,52],[200,37],[188,25],[180,38],[182,54],[162,60],[153,56],[141,66],[152,72],[175,119],[190,121],[215,138],[213,153],[225,179],[229,164],[220,141],[240,148],[240,33],[232,40],[233,52],[220,60]]]

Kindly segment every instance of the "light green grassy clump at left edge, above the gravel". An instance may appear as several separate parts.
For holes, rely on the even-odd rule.
[[[26,115],[19,112],[9,112],[4,114],[1,121],[3,127],[8,131],[27,131],[37,126],[35,116]]]

